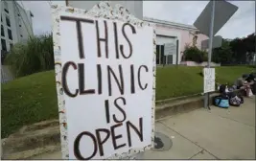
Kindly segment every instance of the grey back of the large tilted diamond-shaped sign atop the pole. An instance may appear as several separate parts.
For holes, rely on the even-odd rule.
[[[200,33],[210,36],[210,22],[213,0],[211,0],[204,10],[198,16],[195,21],[194,26],[198,28]],[[228,19],[238,10],[238,7],[226,2],[224,0],[214,0],[215,1],[215,12],[214,12],[214,29],[213,35],[217,34],[221,27],[228,21]]]

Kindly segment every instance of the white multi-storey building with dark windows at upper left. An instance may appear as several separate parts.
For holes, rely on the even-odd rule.
[[[1,52],[9,52],[13,44],[33,35],[33,16],[16,1],[1,1]]]

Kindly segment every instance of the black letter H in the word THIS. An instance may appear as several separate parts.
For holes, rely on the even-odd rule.
[[[97,37],[98,58],[102,57],[101,41],[105,42],[105,58],[108,58],[108,34],[107,34],[106,21],[104,21],[104,25],[105,25],[105,38],[100,38],[99,23],[98,23],[98,21],[96,21],[96,37]]]

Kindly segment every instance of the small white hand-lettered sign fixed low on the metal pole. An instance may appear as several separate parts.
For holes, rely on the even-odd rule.
[[[203,68],[203,92],[215,91],[215,68]]]

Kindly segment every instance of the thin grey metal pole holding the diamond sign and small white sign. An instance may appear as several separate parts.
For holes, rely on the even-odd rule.
[[[212,0],[212,13],[211,13],[211,24],[210,24],[210,37],[209,37],[209,51],[208,51],[208,63],[207,67],[211,67],[212,61],[212,48],[213,48],[213,30],[214,30],[214,14],[215,14],[215,0]],[[204,107],[211,109],[209,106],[210,94],[205,93],[204,95]]]

